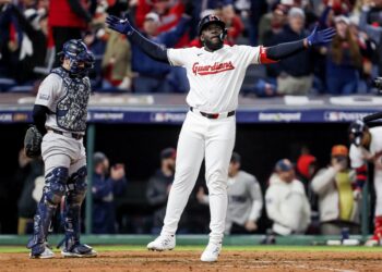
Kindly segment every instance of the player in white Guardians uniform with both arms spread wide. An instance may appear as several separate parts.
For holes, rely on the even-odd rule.
[[[204,158],[211,233],[201,260],[216,261],[225,230],[228,164],[236,134],[235,111],[247,67],[250,64],[276,62],[313,45],[329,42],[335,30],[314,29],[306,39],[272,48],[229,47],[224,46],[227,34],[225,23],[215,15],[207,15],[199,24],[203,48],[167,49],[144,38],[127,18],[109,16],[106,22],[109,28],[126,34],[153,59],[184,67],[190,83],[187,97],[190,111],[179,135],[175,181],[168,197],[164,226],[160,235],[147,248],[168,250],[175,247],[178,222]]]

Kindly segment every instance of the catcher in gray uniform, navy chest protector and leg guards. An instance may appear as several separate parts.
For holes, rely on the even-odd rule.
[[[83,136],[86,129],[91,83],[87,72],[94,57],[82,40],[71,39],[63,45],[62,65],[53,69],[41,83],[33,109],[35,126],[25,141],[28,149],[36,145],[31,135],[43,137],[40,150],[45,163],[45,187],[34,218],[34,234],[27,244],[31,258],[52,258],[47,244],[51,218],[64,197],[63,257],[94,257],[96,252],[80,243],[81,205],[86,193],[86,156]],[[34,133],[33,133],[33,132]],[[38,135],[40,134],[40,135]],[[31,144],[32,143],[32,144]],[[38,143],[38,140],[37,140]],[[27,144],[27,143],[26,143]]]

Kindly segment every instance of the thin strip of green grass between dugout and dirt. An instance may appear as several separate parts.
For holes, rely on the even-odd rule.
[[[145,246],[103,246],[95,245],[94,248],[98,252],[103,251],[140,251],[146,250]],[[204,246],[179,246],[176,248],[177,251],[182,250],[203,250]],[[382,252],[382,247],[363,247],[363,246],[225,246],[225,251],[229,250],[241,250],[241,251],[337,251],[337,252],[349,252],[349,251],[362,251],[362,252]],[[58,251],[58,249],[55,249]],[[28,252],[28,249],[21,246],[0,246],[0,254],[10,252]]]

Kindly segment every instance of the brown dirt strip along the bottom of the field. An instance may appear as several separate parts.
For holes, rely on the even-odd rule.
[[[381,252],[223,251],[202,263],[198,250],[105,251],[97,258],[32,260],[27,254],[0,254],[0,271],[382,271]]]

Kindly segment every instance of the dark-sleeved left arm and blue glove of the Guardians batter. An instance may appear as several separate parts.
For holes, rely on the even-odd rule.
[[[167,59],[167,49],[143,37],[131,26],[128,18],[119,18],[110,15],[106,18],[106,24],[110,29],[127,35],[132,42],[140,47],[142,51],[152,59],[169,63]]]

